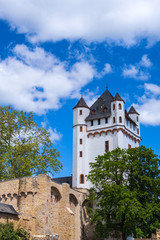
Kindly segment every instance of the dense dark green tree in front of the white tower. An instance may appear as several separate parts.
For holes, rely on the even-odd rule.
[[[144,146],[117,148],[90,164],[97,239],[150,237],[160,228],[160,159]]]

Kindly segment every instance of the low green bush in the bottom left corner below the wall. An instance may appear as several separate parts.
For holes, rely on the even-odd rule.
[[[0,223],[0,240],[29,240],[30,234],[24,228],[14,229],[11,222]]]

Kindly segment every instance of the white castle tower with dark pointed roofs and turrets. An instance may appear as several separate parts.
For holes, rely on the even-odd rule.
[[[138,147],[141,141],[139,114],[108,89],[89,108],[81,97],[73,108],[73,188],[91,187],[86,175],[89,163],[105,151]]]

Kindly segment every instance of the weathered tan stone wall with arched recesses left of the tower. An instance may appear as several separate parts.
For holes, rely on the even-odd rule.
[[[31,236],[58,233],[59,240],[82,239],[82,204],[86,196],[66,183],[53,182],[45,174],[0,182],[1,202],[13,205],[19,216],[12,220],[29,230]]]

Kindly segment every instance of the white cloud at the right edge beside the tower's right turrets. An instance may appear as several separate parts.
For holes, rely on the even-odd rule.
[[[144,90],[139,104],[134,104],[140,113],[140,121],[146,125],[160,125],[160,86],[148,83],[144,84]]]

